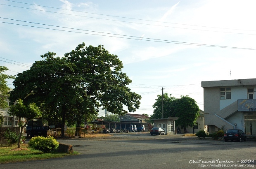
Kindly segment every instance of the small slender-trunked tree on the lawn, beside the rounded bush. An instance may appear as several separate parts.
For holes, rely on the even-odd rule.
[[[27,125],[29,120],[33,120],[34,118],[39,118],[42,116],[42,112],[39,110],[38,106],[35,103],[28,104],[25,106],[21,99],[17,100],[17,103],[10,106],[8,111],[10,116],[18,116],[19,117],[19,127],[20,127],[20,134],[19,134],[19,141],[18,141],[18,148],[20,148],[21,137],[23,134],[23,129]],[[26,122],[23,123],[21,118],[25,118]]]

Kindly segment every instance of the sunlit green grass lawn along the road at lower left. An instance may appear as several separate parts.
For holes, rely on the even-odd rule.
[[[31,150],[27,144],[21,145],[21,148],[17,148],[17,144],[13,146],[2,146],[0,145],[0,164],[9,162],[22,162],[30,160],[43,160],[49,158],[59,158],[66,155],[77,155],[78,152],[73,154],[68,153],[43,153],[39,150]]]

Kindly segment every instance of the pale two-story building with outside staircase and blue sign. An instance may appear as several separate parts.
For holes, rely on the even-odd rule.
[[[202,81],[208,132],[241,129],[256,136],[256,79]]]

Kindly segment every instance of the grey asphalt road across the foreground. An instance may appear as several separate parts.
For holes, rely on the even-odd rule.
[[[202,169],[256,167],[256,141],[199,140],[180,135],[117,133],[98,139],[57,139],[80,155],[0,164],[0,169]]]

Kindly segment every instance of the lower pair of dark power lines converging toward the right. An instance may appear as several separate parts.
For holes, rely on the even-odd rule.
[[[2,17],[0,17],[0,18],[2,18]],[[7,19],[7,18],[2,18],[2,19]],[[15,20],[15,19],[9,19],[9,20],[20,21],[20,20]],[[27,21],[20,21],[20,22],[27,22]],[[105,37],[117,37],[117,38],[122,38],[122,39],[142,40],[142,41],[149,41],[149,42],[161,42],[161,43],[170,43],[170,44],[185,44],[185,45],[193,45],[193,46],[207,46],[207,47],[228,48],[228,49],[256,50],[256,49],[251,49],[251,48],[241,48],[241,47],[232,47],[232,46],[219,46],[219,45],[209,45],[209,44],[197,44],[197,43],[190,43],[190,42],[179,42],[179,41],[164,40],[164,39],[153,39],[153,38],[146,38],[146,37],[136,37],[136,36],[129,36],[129,35],[120,35],[120,34],[112,34],[112,33],[105,33],[105,32],[97,32],[97,31],[92,31],[92,30],[83,30],[83,31],[97,32],[97,33],[117,35],[117,36],[99,35],[99,34],[93,34],[93,33],[76,32],[76,31],[71,31],[71,30],[59,30],[59,29],[54,29],[54,28],[44,28],[44,27],[39,27],[39,26],[23,25],[23,24],[2,22],[2,21],[0,21],[0,23],[28,26],[28,27],[33,27],[33,28],[42,28],[42,29],[48,29],[48,30],[57,30],[57,31],[64,31],[64,32],[82,33],[82,34],[88,34],[88,35],[98,35],[98,36],[105,36]],[[33,22],[27,22],[27,23],[33,23]],[[47,25],[47,24],[43,24],[43,23],[34,23],[34,24]],[[56,25],[47,25],[47,26],[53,26],[53,27],[58,27],[58,28],[67,28],[67,27],[56,26]],[[76,29],[76,28],[67,28],[67,29],[82,30],[82,29]],[[124,37],[119,37],[119,36],[124,36]]]

